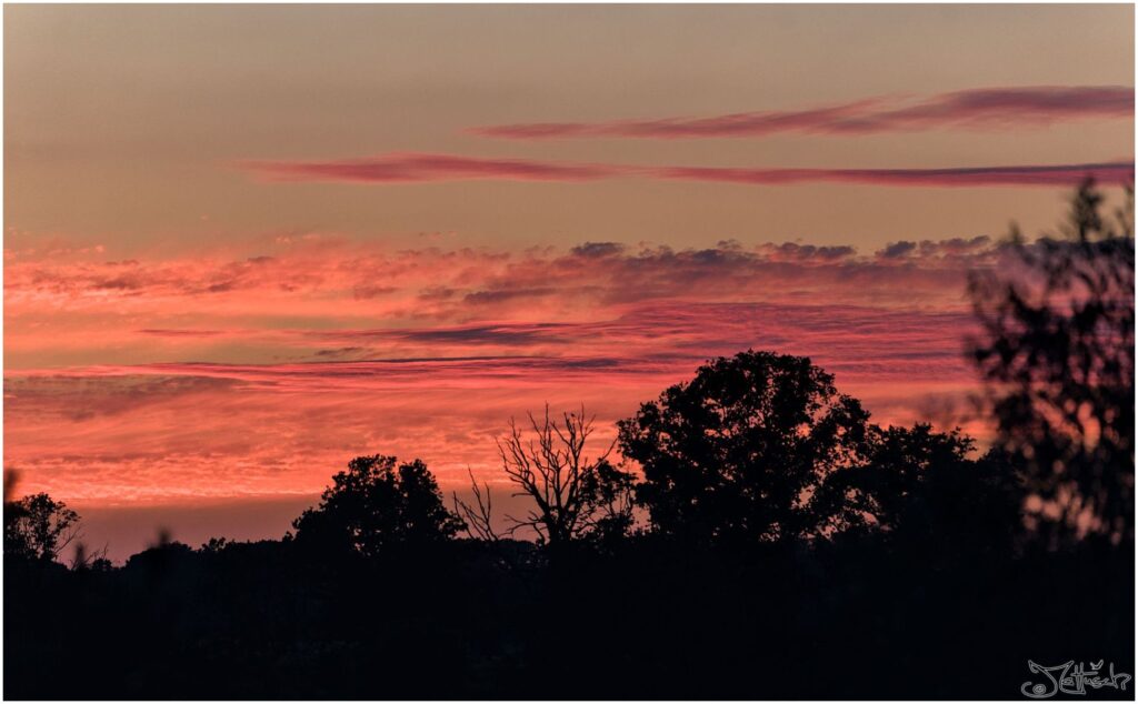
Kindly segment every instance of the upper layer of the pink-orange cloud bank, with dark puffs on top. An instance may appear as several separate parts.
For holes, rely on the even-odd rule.
[[[913,242],[904,256],[892,256],[901,246],[861,254],[849,246],[792,242],[685,250],[586,242],[568,251],[504,252],[343,241],[273,242],[253,245],[250,252],[129,263],[101,255],[14,257],[5,271],[6,349],[9,368],[92,358],[355,358],[363,350],[352,348],[363,346],[363,334],[384,340],[384,356],[419,354],[410,348],[437,325],[576,323],[650,301],[808,303],[839,296],[890,307],[905,290],[906,301],[945,308],[960,305],[966,271],[990,266],[998,256],[998,246],[983,238]],[[426,333],[393,334],[398,330]],[[455,334],[444,331],[434,342]]]

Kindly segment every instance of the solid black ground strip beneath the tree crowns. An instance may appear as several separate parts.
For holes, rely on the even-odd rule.
[[[925,554],[641,539],[333,560],[264,541],[109,571],[8,561],[5,696],[1022,698],[1046,682],[1029,660],[1133,673],[1132,547]]]

